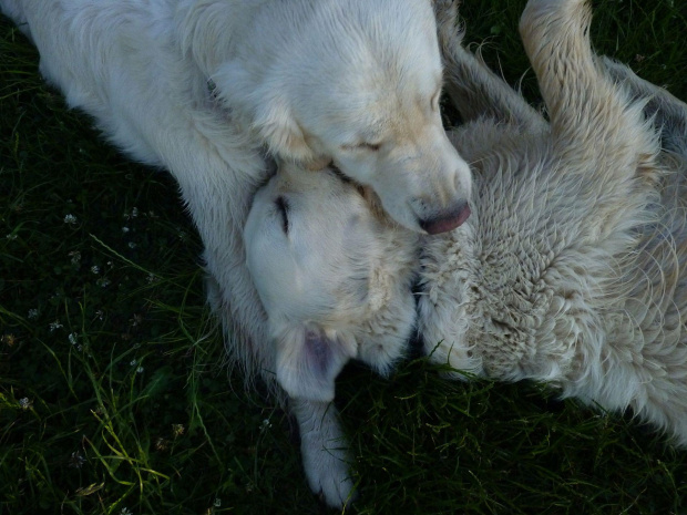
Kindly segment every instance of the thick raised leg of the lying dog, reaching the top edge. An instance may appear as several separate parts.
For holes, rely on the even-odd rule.
[[[653,181],[658,142],[640,106],[597,64],[591,18],[585,0],[531,0],[520,32],[548,110],[552,157],[583,183],[602,219],[630,195],[632,179]]]

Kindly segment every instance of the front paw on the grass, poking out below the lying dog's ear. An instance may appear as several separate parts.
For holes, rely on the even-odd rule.
[[[308,484],[329,506],[341,507],[355,498],[349,472],[348,442],[339,415],[329,402],[290,400],[298,421],[300,452]]]

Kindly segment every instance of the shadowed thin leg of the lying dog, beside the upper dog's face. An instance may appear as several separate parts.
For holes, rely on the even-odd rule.
[[[525,131],[546,127],[544,117],[476,55],[462,47],[457,1],[437,0],[434,10],[444,61],[444,89],[463,122],[492,117]]]

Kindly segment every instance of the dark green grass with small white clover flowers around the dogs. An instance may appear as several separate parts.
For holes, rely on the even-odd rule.
[[[595,2],[595,47],[687,99],[681,0]],[[536,102],[522,0],[468,39]],[[318,514],[288,418],[222,367],[167,175],[103,143],[0,19],[0,515]],[[523,75],[524,73],[524,75]],[[531,383],[345,370],[360,514],[685,514],[687,453]]]

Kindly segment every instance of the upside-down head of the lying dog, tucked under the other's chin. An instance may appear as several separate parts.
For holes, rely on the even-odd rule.
[[[255,196],[244,239],[268,316],[277,381],[293,398],[334,399],[350,359],[387,373],[414,325],[417,238],[390,227],[331,169],[284,165]]]

